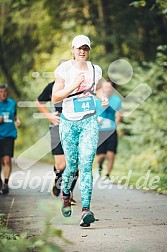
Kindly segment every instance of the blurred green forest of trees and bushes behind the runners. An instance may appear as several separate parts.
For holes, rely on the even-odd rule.
[[[71,58],[71,40],[77,34],[90,37],[90,60],[100,65],[105,79],[113,61],[129,62],[133,76],[128,83],[116,85],[117,91],[126,97],[141,83],[152,91],[118,128],[112,175],[132,170],[135,184],[150,171],[151,177],[160,177],[156,190],[166,193],[166,14],[165,0],[0,0],[0,82],[8,83],[9,96],[18,104],[34,102],[54,80],[59,62]],[[42,139],[49,127],[47,120],[34,119],[35,102],[34,107],[17,109],[22,127],[16,157]],[[42,160],[53,162],[53,157],[48,153]]]

